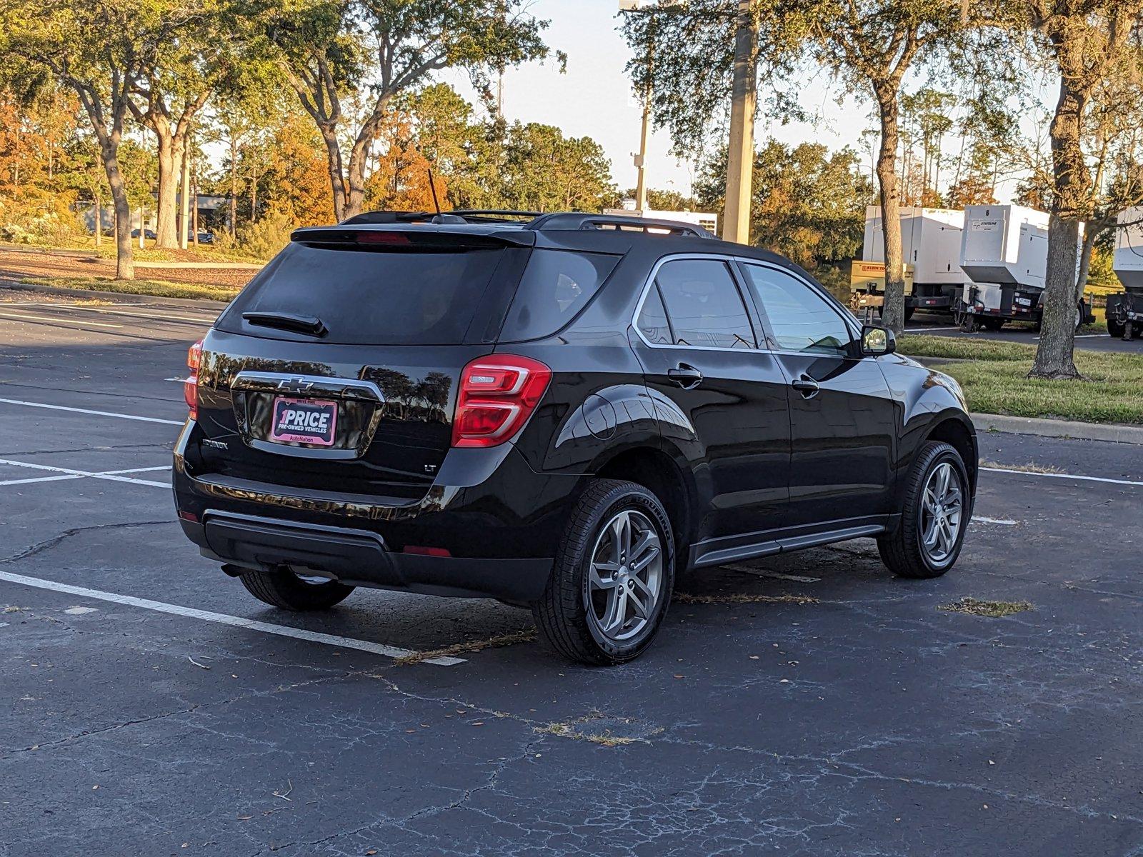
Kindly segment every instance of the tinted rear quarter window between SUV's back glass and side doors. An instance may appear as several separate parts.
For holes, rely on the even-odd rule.
[[[533,250],[501,339],[554,334],[588,305],[618,261],[601,253]]]

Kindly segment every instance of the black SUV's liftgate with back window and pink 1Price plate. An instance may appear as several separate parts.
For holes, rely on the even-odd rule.
[[[347,235],[291,242],[208,336],[209,472],[410,500],[432,484],[461,370],[493,351],[528,250],[480,235]]]

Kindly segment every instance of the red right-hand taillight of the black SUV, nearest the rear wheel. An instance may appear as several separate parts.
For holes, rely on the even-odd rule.
[[[547,390],[552,370],[531,358],[489,354],[461,375],[454,447],[495,447],[511,440]]]

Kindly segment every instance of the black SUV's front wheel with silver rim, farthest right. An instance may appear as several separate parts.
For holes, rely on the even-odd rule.
[[[901,577],[940,577],[960,555],[970,512],[960,454],[948,443],[929,441],[909,473],[901,523],[877,539],[881,561]]]

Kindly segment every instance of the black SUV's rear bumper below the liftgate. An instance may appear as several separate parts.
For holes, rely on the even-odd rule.
[[[416,500],[339,492],[335,475],[315,491],[201,472],[195,431],[187,423],[175,448],[173,484],[183,531],[203,555],[359,586],[534,601],[582,486],[576,474],[537,473],[504,444],[451,450]]]

